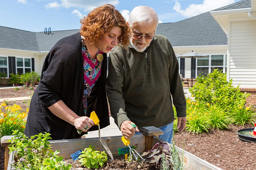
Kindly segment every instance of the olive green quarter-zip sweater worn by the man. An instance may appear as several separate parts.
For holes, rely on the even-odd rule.
[[[177,116],[186,116],[186,99],[172,45],[160,35],[152,41],[146,52],[137,52],[131,45],[111,51],[106,90],[111,115],[119,128],[125,120],[139,128],[172,123],[172,99]]]

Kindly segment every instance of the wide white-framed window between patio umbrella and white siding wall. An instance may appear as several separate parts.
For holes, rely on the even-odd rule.
[[[227,70],[227,55],[209,55],[209,57],[197,58],[197,76],[207,75],[214,69],[223,73]]]

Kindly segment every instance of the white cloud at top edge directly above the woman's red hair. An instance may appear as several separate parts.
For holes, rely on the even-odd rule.
[[[119,0],[61,0],[61,6],[65,8],[84,8],[85,11],[91,11],[107,3],[116,6],[119,4]]]

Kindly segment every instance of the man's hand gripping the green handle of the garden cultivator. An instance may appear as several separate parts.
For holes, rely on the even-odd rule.
[[[129,120],[125,120],[124,122],[122,122],[121,127],[120,127],[122,135],[125,136],[125,138],[127,138],[127,139],[131,139],[131,137],[134,136],[135,131],[136,132],[140,131],[137,126],[134,128],[134,127],[132,127],[131,124],[135,125],[135,123],[133,123]]]

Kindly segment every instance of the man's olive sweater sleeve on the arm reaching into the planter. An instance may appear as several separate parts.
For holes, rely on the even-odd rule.
[[[118,58],[118,54],[113,51],[109,59],[106,91],[111,108],[111,116],[114,118],[119,129],[122,122],[130,120],[125,112],[125,100],[122,94],[123,80],[124,70],[122,63]]]

